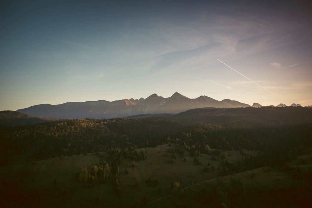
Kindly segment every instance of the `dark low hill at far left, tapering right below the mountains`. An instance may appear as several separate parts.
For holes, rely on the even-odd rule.
[[[40,116],[31,116],[21,112],[4,110],[0,111],[0,128],[9,126],[20,126],[34,123],[44,123],[50,121],[61,121],[70,119],[46,118]]]

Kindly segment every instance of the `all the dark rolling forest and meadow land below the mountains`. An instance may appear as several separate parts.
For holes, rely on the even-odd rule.
[[[311,116],[199,108],[0,128],[1,197],[4,207],[305,207]]]

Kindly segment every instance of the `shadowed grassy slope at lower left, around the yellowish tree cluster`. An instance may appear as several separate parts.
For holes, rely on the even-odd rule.
[[[105,158],[105,152],[100,154]],[[37,207],[42,203],[46,207],[80,207],[81,204],[87,206],[94,202],[97,196],[101,196],[102,201],[106,200],[111,206],[119,206],[120,200],[114,195],[112,181],[97,184],[94,188],[76,181],[82,166],[93,166],[103,158],[95,154],[75,155],[0,167],[1,194],[6,198],[4,207],[27,204]]]

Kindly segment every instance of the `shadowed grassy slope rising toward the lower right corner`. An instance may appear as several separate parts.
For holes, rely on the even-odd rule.
[[[289,164],[292,167],[303,166],[302,159],[306,161],[304,166],[311,173],[312,154],[300,156]],[[264,168],[270,169],[270,172],[265,172]],[[255,174],[254,177],[252,173]],[[218,187],[229,190],[231,178],[241,178],[245,182],[247,197],[242,207],[309,207],[312,197],[311,174],[310,179],[298,180],[292,178],[288,172],[280,171],[278,167],[262,167],[201,181],[185,186],[174,194],[151,200],[147,207],[202,207],[203,205],[214,207],[206,203],[205,193],[212,192]],[[204,202],[201,201],[202,199]]]

